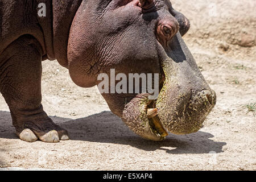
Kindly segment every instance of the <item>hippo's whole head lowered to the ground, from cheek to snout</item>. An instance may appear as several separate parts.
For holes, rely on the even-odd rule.
[[[216,104],[216,94],[182,39],[188,29],[188,19],[168,0],[82,1],[69,35],[69,73],[77,85],[90,87],[100,84],[102,73],[108,83],[118,84],[114,69],[127,76],[123,88],[136,87],[128,81],[131,73],[158,75],[146,81],[159,89],[155,98],[143,89],[143,79],[139,93],[117,92],[110,83],[102,96],[143,138],[163,140],[167,131],[195,133]]]

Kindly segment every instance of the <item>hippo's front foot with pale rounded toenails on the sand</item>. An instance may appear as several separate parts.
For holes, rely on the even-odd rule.
[[[25,122],[25,129],[21,132],[16,131],[18,137],[26,142],[43,142],[56,143],[60,140],[68,140],[68,131],[56,125],[48,118],[47,121]]]

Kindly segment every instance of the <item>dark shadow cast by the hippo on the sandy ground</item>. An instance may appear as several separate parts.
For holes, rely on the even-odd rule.
[[[223,152],[225,142],[214,142],[210,133],[199,131],[189,135],[170,134],[163,142],[144,140],[135,135],[121,119],[110,111],[80,119],[51,117],[69,131],[71,140],[129,145],[145,151],[165,150],[169,154],[208,154]],[[0,111],[0,138],[17,139],[11,125],[10,113]],[[170,150],[169,148],[174,148]]]

